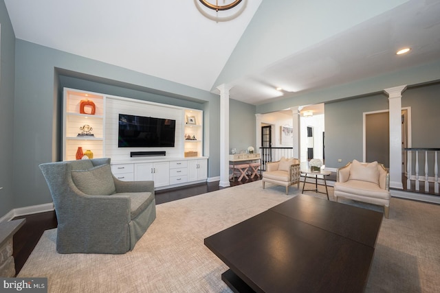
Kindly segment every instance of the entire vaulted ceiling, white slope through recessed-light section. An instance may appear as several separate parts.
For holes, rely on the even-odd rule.
[[[255,105],[440,60],[438,0],[5,5],[16,38],[205,91],[229,84],[232,99]]]

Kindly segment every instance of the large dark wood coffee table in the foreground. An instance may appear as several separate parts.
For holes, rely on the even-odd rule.
[[[234,292],[362,292],[382,216],[300,195],[204,242]]]

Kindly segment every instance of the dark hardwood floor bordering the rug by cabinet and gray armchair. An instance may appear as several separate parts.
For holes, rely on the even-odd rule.
[[[260,178],[244,179],[241,181],[230,181],[230,186],[250,183]],[[226,187],[227,188],[227,187]],[[206,194],[207,192],[223,189],[219,187],[219,182],[199,183],[195,185],[188,185],[185,187],[175,187],[171,189],[158,190],[155,192],[156,204],[179,200],[181,198],[188,198],[190,196],[197,196],[199,194]],[[23,268],[28,257],[34,250],[36,244],[39,242],[44,231],[56,228],[58,222],[56,220],[55,211],[48,211],[45,213],[36,213],[33,215],[24,215],[16,217],[17,219],[26,219],[25,224],[14,235],[13,239],[13,253],[15,260],[15,272],[18,274]]]

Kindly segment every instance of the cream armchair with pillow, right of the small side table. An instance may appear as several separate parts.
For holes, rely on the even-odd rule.
[[[383,164],[353,160],[338,169],[334,187],[336,201],[338,198],[349,198],[379,204],[384,206],[385,218],[388,218],[391,194],[389,174]]]

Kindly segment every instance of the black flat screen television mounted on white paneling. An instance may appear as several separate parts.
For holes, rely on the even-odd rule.
[[[136,115],[119,115],[119,148],[173,148],[176,121]]]

